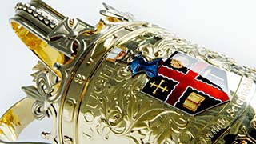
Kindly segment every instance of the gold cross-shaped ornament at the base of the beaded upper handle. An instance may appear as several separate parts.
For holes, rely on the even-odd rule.
[[[94,27],[82,22],[78,18],[66,18],[48,35],[50,45],[60,47],[69,57],[74,57],[86,48],[86,40]]]

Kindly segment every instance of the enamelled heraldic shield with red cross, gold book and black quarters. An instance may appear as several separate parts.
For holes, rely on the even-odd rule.
[[[175,52],[142,92],[188,114],[199,114],[230,100],[226,72]]]

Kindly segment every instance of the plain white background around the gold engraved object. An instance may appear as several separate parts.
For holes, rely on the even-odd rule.
[[[37,58],[11,30],[9,18],[14,16],[18,0],[2,1],[0,8],[0,115],[14,102],[24,98],[21,86],[33,84],[30,74]],[[29,2],[23,0],[23,2]],[[256,66],[256,1],[245,0],[46,0],[62,14],[81,18],[95,25],[102,2],[118,10],[130,11],[138,20],[167,28],[186,38],[236,59],[246,66]],[[47,122],[35,122],[19,140],[38,140],[40,131],[49,129]]]

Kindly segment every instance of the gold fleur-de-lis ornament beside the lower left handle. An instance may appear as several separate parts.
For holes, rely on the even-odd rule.
[[[54,107],[54,103],[58,100],[58,90],[60,86],[59,78],[51,72],[42,62],[38,62],[34,66],[34,81],[37,86],[24,86],[22,90],[26,93],[26,96],[35,100],[32,105],[32,112],[34,118],[41,120],[42,118],[50,116],[53,118],[53,130],[51,133],[42,132],[42,138],[51,140],[54,144],[57,144],[57,110]]]

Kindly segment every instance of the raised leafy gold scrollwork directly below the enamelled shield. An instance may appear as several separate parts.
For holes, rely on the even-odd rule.
[[[109,82],[117,83],[118,86],[114,86],[113,90],[99,91],[96,80],[94,92],[90,94],[90,101],[86,106],[86,110],[91,110],[90,114],[86,113],[86,122],[88,118],[90,122],[94,121],[94,117],[91,116],[98,113],[95,110],[99,110],[101,117],[94,129],[103,138],[108,140],[110,134],[115,134],[117,137],[128,138],[131,143],[167,144],[178,142],[177,135],[182,134],[182,131],[190,134],[189,131],[184,131],[188,119],[182,118],[182,114],[175,110],[163,108],[161,102],[154,102],[140,92],[142,83],[137,80],[146,78],[145,75],[139,75],[138,79],[130,79],[130,71],[124,66],[117,66],[116,70],[108,71],[116,75],[110,77]],[[106,83],[104,86],[109,84]]]

